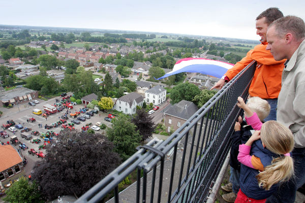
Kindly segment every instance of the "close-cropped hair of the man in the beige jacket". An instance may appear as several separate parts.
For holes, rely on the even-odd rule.
[[[303,40],[305,37],[305,23],[296,16],[285,16],[272,22],[269,27],[275,26],[278,35],[283,37],[288,32],[296,38],[297,41]]]

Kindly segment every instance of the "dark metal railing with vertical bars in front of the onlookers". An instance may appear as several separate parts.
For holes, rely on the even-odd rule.
[[[167,140],[153,139],[76,202],[204,202],[230,149],[230,136],[255,71],[253,61]],[[137,170],[137,181],[118,184]]]

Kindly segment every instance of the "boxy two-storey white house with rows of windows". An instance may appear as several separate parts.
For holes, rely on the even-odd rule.
[[[162,104],[166,99],[166,89],[155,86],[145,92],[146,103],[153,103],[155,106]]]

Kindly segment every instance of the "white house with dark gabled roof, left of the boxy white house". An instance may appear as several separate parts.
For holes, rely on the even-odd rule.
[[[119,97],[115,101],[113,109],[121,111],[124,114],[134,114],[136,113],[136,107],[143,106],[144,97],[136,92],[131,92],[122,97]]]

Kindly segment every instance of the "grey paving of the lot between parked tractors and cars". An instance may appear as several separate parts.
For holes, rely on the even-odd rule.
[[[41,100],[41,99],[37,99],[37,100],[40,101],[40,103],[38,105],[36,105],[34,107],[32,107],[32,106],[25,107],[25,105],[24,105],[24,109],[22,109],[20,112],[18,111],[18,108],[16,106],[12,109],[9,109],[9,110],[11,110],[11,113],[7,113],[8,112],[7,109],[5,109],[3,111],[2,109],[4,109],[4,108],[1,107],[0,108],[1,111],[6,112],[6,113],[4,113],[3,117],[0,118],[0,125],[2,126],[2,124],[7,123],[8,120],[12,119],[16,124],[20,123],[23,126],[22,129],[24,129],[25,127],[32,128],[32,130],[28,131],[28,133],[31,133],[33,130],[39,131],[40,134],[41,133],[46,133],[47,129],[44,128],[45,124],[51,125],[51,123],[57,122],[59,120],[58,117],[61,117],[62,115],[64,115],[66,113],[67,109],[64,109],[62,112],[58,112],[58,113],[55,113],[53,115],[50,115],[46,119],[46,118],[42,117],[41,115],[33,114],[32,113],[33,109],[40,109],[40,110],[42,110],[42,112],[44,112],[43,111],[43,106],[46,105],[46,104],[49,104],[49,105],[54,104],[55,98],[49,99],[48,101],[44,101],[44,100]],[[73,109],[68,110],[69,114],[70,114],[70,111],[71,111],[71,113],[74,113],[75,111],[79,111],[83,107],[84,107],[84,104],[75,105],[75,106],[73,106]],[[92,110],[92,109],[89,109],[89,111],[90,110]],[[79,116],[81,116],[81,115],[82,115],[82,113]],[[104,120],[104,118],[107,117],[107,115],[108,114],[106,114],[106,113],[98,112],[97,114],[94,114],[94,116],[92,116],[90,119],[87,119],[84,122],[81,121],[80,124],[78,124],[78,125],[74,124],[74,127],[77,130],[81,130],[81,127],[84,126],[86,123],[92,123],[91,126],[93,126],[97,122],[104,123],[104,124],[106,124],[107,126],[110,127],[111,123]],[[32,118],[32,117],[35,118],[36,121],[27,122],[27,119]],[[67,123],[71,123],[71,120],[73,120],[73,118],[69,117],[69,119],[67,120]],[[38,124],[41,124],[42,127],[39,127]],[[38,149],[38,146],[43,144],[43,139],[40,138],[40,136],[33,136],[33,138],[32,138],[32,140],[33,139],[40,139],[42,142],[39,143],[39,144],[32,143],[32,140],[25,140],[25,139],[21,138],[20,133],[21,133],[22,129],[17,129],[17,131],[15,132],[15,136],[17,136],[18,140],[21,143],[25,143],[25,145],[28,147],[28,149],[20,150],[20,152],[21,152],[21,155],[24,156],[28,160],[28,163],[25,165],[25,174],[29,175],[29,173],[32,171],[34,162],[37,161],[37,160],[40,160],[40,158],[28,154],[28,150],[33,148],[33,149],[35,149],[35,151],[37,151],[37,152],[42,151],[43,153],[45,153],[45,150],[39,150]],[[61,125],[59,125],[58,127],[53,127],[50,130],[53,130],[54,132],[59,133],[61,129],[63,129],[63,128],[61,127]],[[4,129],[1,129],[1,130],[4,130]],[[8,141],[10,141],[10,137],[14,135],[12,131],[9,131],[8,129],[5,129],[5,130],[9,134],[9,137],[5,138],[5,139],[0,137],[0,141],[3,142],[3,143],[7,143]],[[101,132],[101,130],[99,132]],[[53,139],[54,139],[54,141],[52,141],[52,142],[55,142],[56,141],[56,136],[54,136]],[[13,147],[17,150],[19,148],[19,145],[16,145],[16,146],[13,145]]]

